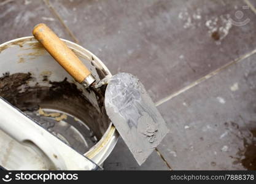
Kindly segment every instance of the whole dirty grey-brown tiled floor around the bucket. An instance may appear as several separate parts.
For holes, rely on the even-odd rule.
[[[138,75],[171,133],[141,167],[120,140],[106,169],[256,169],[255,6],[255,0],[6,0],[0,43],[29,36],[44,22],[99,56],[113,74]]]

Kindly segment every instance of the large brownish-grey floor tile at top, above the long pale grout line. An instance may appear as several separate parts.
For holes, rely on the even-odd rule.
[[[51,1],[80,44],[113,74],[138,75],[154,101],[256,47],[244,1]]]

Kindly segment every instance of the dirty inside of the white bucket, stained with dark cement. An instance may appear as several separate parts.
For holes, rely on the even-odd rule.
[[[66,41],[99,80],[110,72],[96,56]],[[90,150],[111,121],[104,86],[85,90],[32,37],[0,48],[0,96],[80,153]]]

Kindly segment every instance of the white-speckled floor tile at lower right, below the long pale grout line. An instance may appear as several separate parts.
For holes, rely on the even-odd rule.
[[[160,105],[172,169],[256,169],[256,54]]]

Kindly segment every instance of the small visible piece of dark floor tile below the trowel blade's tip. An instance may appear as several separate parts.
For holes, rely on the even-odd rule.
[[[156,151],[139,166],[121,137],[103,167],[105,170],[169,170]]]

